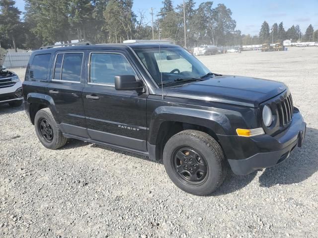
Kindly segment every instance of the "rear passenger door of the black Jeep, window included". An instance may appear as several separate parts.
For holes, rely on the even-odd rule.
[[[63,132],[88,137],[82,90],[84,52],[57,52],[47,93],[55,104]]]

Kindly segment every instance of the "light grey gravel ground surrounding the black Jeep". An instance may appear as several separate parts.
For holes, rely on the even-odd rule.
[[[214,72],[285,82],[308,123],[303,148],[277,167],[230,172],[198,197],[161,162],[76,140],[45,149],[23,108],[2,105],[0,237],[318,237],[318,48],[199,59]]]

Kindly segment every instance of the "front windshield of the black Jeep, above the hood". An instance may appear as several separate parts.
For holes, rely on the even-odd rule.
[[[181,47],[160,48],[160,51],[159,48],[135,49],[135,52],[158,85],[161,85],[161,75],[162,82],[182,83],[188,81],[180,79],[196,79],[210,72]]]

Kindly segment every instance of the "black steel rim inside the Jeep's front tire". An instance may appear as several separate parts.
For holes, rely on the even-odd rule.
[[[191,147],[177,148],[172,154],[175,173],[183,181],[200,185],[208,174],[208,164],[199,152]]]

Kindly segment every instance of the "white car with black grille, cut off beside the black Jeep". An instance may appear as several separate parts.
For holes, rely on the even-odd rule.
[[[22,83],[13,72],[5,69],[3,62],[7,51],[0,48],[0,104],[8,103],[11,107],[22,105]]]

